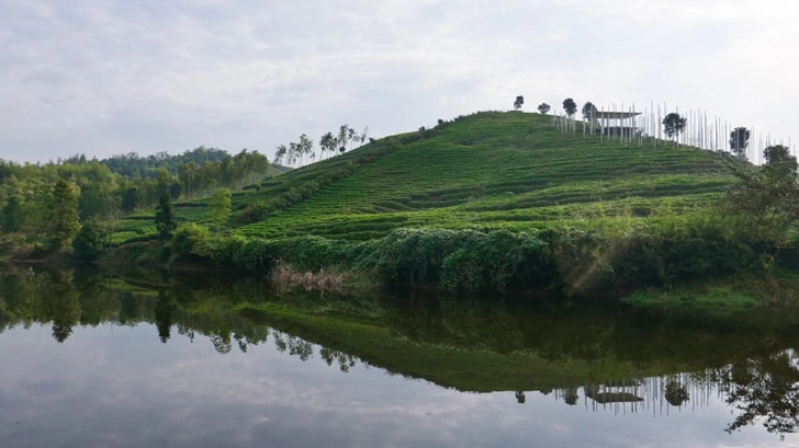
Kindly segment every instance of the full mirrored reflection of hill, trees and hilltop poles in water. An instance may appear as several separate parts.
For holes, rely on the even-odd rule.
[[[263,311],[265,303],[285,308]],[[571,409],[572,417],[581,409],[662,416],[724,403],[734,414],[709,430],[738,434],[763,425],[785,436],[798,425],[795,328],[764,332],[759,321],[730,328],[605,306],[280,296],[252,280],[149,284],[83,269],[4,272],[0,333],[34,324],[46,325],[65,346],[79,328],[140,328],[157,344],[196,340],[226,357],[258,356],[249,354],[271,338],[269,346],[284,358],[324,363],[355,381],[363,380],[359,367],[375,366],[381,376],[455,390],[510,391],[502,399],[520,410],[551,400]],[[385,387],[397,393],[408,388]]]

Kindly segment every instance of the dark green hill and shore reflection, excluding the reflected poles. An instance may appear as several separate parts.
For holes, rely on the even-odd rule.
[[[151,285],[151,286],[150,286]],[[252,279],[139,278],[94,271],[24,271],[0,277],[0,331],[52,323],[64,341],[75,325],[148,322],[167,342],[175,334],[211,338],[220,353],[246,351],[269,337],[279,349],[328,364],[353,359],[470,391],[548,390],[564,383],[610,383],[722,367],[788,348],[790,332],[709,328],[706,322],[633,313],[605,306],[536,307],[497,300],[330,298],[271,292]],[[699,343],[698,343],[699,342]],[[342,368],[347,370],[347,368]]]

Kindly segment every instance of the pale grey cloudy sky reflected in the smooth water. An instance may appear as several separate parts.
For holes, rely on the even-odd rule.
[[[474,394],[358,365],[341,374],[273,341],[221,355],[205,337],[153,325],[49,326],[0,335],[0,447],[766,447],[761,427],[728,435],[718,400],[701,409],[593,412],[583,391]],[[271,337],[270,337],[271,338]],[[23,349],[24,348],[24,349]],[[693,398],[691,398],[693,399]],[[629,405],[628,405],[629,406]],[[645,406],[645,405],[644,405]],[[628,407],[629,409],[629,407]],[[19,422],[19,423],[18,423]]]

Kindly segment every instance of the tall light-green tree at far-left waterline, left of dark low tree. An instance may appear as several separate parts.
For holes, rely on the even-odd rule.
[[[74,183],[59,179],[53,188],[53,207],[46,221],[49,250],[61,252],[71,243],[79,228],[78,188]]]

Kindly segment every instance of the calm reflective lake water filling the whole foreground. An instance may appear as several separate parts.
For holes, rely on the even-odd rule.
[[[0,448],[799,446],[787,312],[0,277]]]

